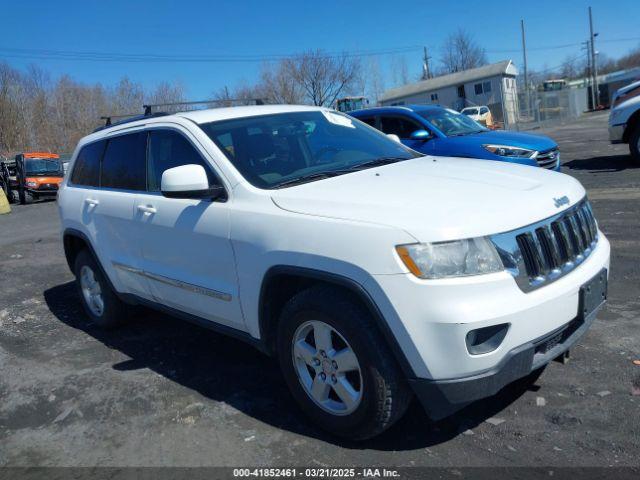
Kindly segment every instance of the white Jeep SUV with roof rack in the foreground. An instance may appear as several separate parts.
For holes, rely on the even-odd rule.
[[[606,297],[609,243],[579,182],[423,157],[323,108],[104,128],[58,203],[93,322],[142,304],[245,340],[355,439],[413,396],[437,419],[535,377]]]

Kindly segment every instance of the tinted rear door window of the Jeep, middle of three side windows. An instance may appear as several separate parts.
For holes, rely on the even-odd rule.
[[[147,133],[110,138],[102,159],[100,185],[123,190],[145,190]]]

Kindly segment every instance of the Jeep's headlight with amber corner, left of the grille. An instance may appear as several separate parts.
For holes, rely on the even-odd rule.
[[[420,278],[464,277],[504,270],[496,248],[486,237],[398,245],[396,251],[409,271]]]

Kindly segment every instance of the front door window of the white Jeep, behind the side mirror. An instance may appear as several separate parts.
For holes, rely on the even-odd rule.
[[[223,149],[233,151],[230,137],[224,139]],[[202,165],[209,177],[209,184],[219,182],[211,172],[202,156],[195,147],[180,133],[173,130],[152,130],[149,137],[149,191],[159,192],[162,184],[162,173],[170,168],[181,165]]]

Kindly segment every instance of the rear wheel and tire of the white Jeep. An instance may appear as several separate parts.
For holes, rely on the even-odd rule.
[[[127,305],[112,290],[91,252],[78,253],[73,271],[80,301],[93,323],[111,329],[127,320]]]

